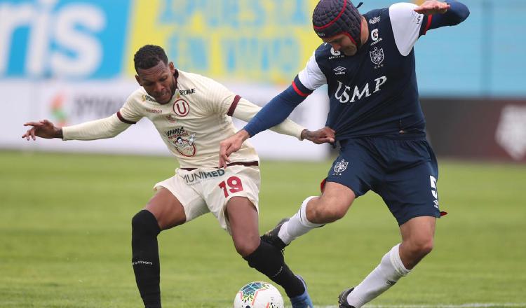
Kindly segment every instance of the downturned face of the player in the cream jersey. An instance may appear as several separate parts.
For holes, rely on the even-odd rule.
[[[164,62],[159,61],[156,66],[149,69],[137,69],[135,80],[159,104],[168,104],[175,93],[174,73],[173,62],[164,64]]]

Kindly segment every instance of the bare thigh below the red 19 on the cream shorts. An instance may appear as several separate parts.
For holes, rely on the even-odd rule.
[[[232,197],[225,209],[236,251],[243,257],[259,246],[257,210],[247,197]]]

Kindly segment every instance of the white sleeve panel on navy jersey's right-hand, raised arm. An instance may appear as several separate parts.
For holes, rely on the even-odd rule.
[[[417,5],[413,3],[395,3],[389,6],[396,47],[403,56],[409,55],[417,42],[424,20],[424,15],[415,12],[414,8],[417,8]]]

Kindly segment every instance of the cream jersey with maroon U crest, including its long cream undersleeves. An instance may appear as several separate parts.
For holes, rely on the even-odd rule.
[[[144,88],[135,90],[119,112],[108,118],[62,127],[63,140],[112,138],[148,118],[183,168],[217,167],[220,141],[233,135],[231,116],[250,121],[261,107],[239,97],[204,76],[176,71],[177,89],[168,104],[159,104]],[[301,140],[304,127],[289,119],[271,127]],[[245,141],[230,155],[231,163],[258,162],[254,148]]]

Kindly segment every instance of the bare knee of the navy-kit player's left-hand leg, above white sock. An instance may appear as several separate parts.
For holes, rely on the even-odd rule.
[[[309,201],[307,219],[311,223],[332,223],[345,216],[356,195],[340,183],[327,182],[320,197]]]

